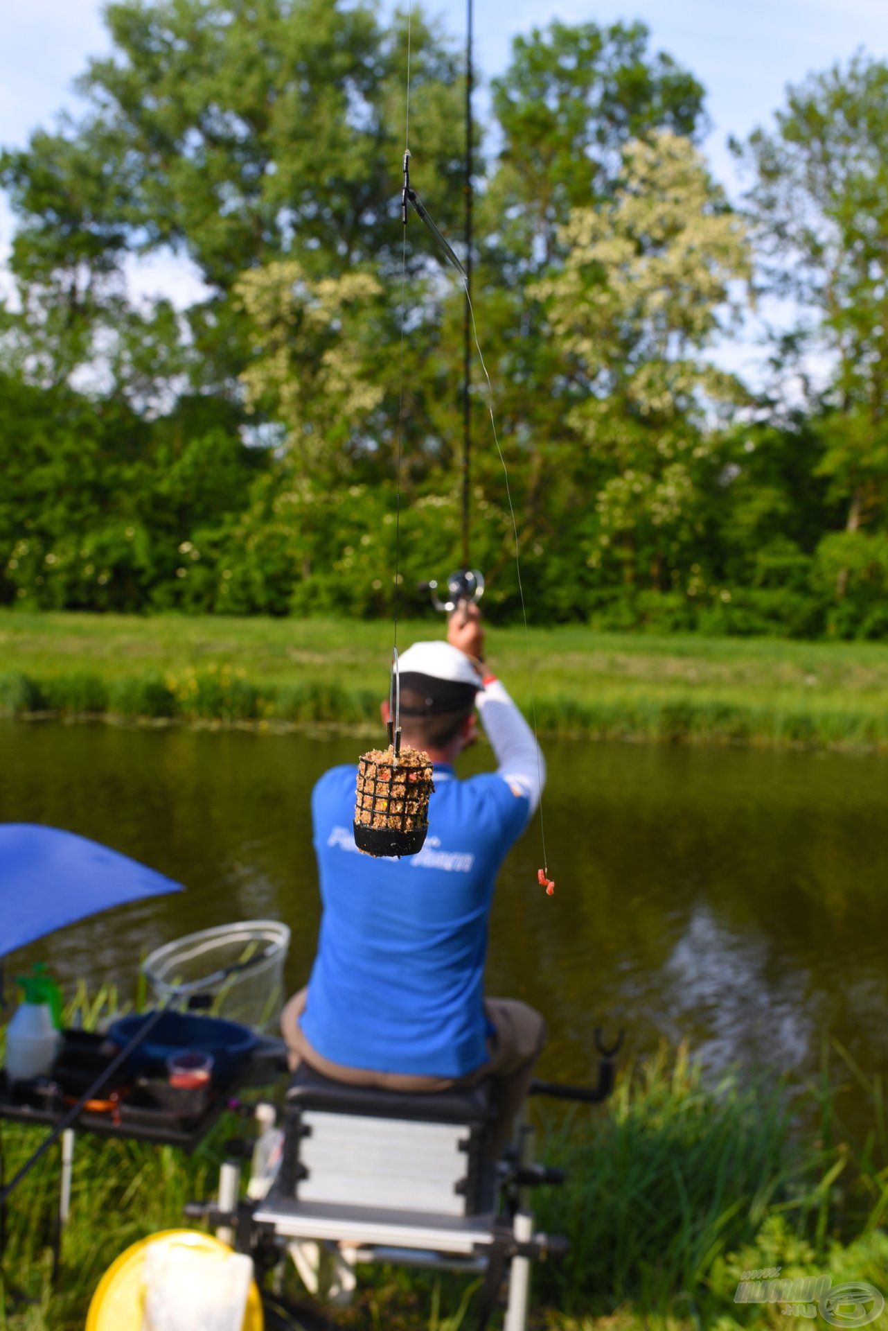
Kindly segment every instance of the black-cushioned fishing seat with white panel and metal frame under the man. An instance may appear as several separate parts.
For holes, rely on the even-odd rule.
[[[489,1079],[404,1094],[334,1082],[303,1063],[267,1195],[238,1207],[239,1169],[229,1162],[210,1218],[234,1221],[257,1268],[288,1252],[310,1292],[327,1300],[347,1302],[355,1267],[367,1263],[457,1271],[483,1276],[480,1328],[505,1291],[504,1328],[525,1331],[530,1263],[568,1250],[566,1239],[534,1233],[526,1194],[562,1175],[532,1163],[529,1127],[502,1161],[491,1159],[492,1123]]]

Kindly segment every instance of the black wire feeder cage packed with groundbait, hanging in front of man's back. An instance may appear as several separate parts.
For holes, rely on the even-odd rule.
[[[400,736],[399,736],[400,737]],[[355,845],[366,855],[421,851],[435,789],[428,753],[389,745],[362,753],[355,800]]]

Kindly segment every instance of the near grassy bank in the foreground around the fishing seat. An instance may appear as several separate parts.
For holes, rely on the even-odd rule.
[[[569,1178],[541,1190],[538,1221],[566,1234],[573,1250],[564,1264],[537,1268],[533,1327],[592,1331],[600,1318],[626,1331],[784,1326],[779,1307],[734,1303],[743,1272],[764,1267],[884,1287],[888,1142],[877,1090],[868,1087],[875,1127],[864,1150],[845,1139],[833,1091],[820,1095],[819,1126],[803,1133],[774,1079],[707,1086],[682,1051],[625,1070],[602,1110],[544,1119],[541,1158]],[[7,1270],[36,1302],[4,1312],[0,1300],[0,1328],[80,1331],[113,1258],[181,1225],[183,1203],[210,1193],[231,1130],[219,1125],[190,1159],[167,1147],[78,1138],[55,1290],[47,1244],[57,1161],[41,1162],[11,1205],[7,1251]],[[39,1134],[4,1125],[3,1137],[9,1173]],[[457,1279],[364,1268],[359,1290],[342,1314],[352,1331],[473,1324],[471,1291]],[[876,1327],[887,1322],[888,1314]]]

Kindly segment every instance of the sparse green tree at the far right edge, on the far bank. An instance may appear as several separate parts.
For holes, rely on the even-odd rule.
[[[859,53],[812,75],[734,146],[764,285],[798,302],[799,341],[830,367],[818,466],[855,532],[888,500],[888,64]]]

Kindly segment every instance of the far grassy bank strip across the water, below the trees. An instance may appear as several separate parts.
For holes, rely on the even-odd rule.
[[[400,642],[441,634],[404,623]],[[383,622],[0,612],[0,712],[378,724]],[[541,732],[888,749],[888,646],[530,631]],[[489,659],[529,704],[524,631]]]

